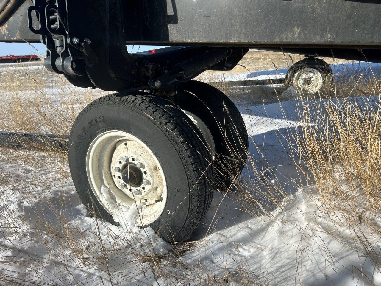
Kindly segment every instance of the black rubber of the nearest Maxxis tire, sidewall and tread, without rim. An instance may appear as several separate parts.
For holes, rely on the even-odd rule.
[[[83,109],[69,141],[69,166],[75,188],[89,213],[117,224],[97,201],[86,174],[91,142],[107,130],[121,130],[142,140],[155,154],[166,178],[163,214],[149,225],[168,242],[186,239],[207,213],[213,197],[214,170],[202,134],[170,101],[151,95],[115,93]]]

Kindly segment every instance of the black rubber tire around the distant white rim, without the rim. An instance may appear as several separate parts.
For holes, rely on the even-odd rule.
[[[329,64],[319,58],[308,57],[297,61],[293,64],[290,69],[287,71],[285,76],[285,88],[289,88],[292,85],[293,78],[300,69],[304,69],[306,67],[311,67],[316,69],[322,74],[323,77],[323,85],[328,84],[328,81],[332,80],[332,69]]]

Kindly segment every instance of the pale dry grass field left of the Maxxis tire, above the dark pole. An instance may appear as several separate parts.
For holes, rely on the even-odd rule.
[[[74,87],[36,64],[2,67],[0,72],[2,131],[67,135],[78,113],[105,94]]]

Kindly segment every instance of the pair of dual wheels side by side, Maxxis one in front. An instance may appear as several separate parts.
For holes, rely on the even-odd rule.
[[[205,108],[200,108],[194,96],[204,102]],[[212,99],[214,104],[211,103]],[[190,101],[194,104],[189,104]],[[221,106],[224,111],[217,112]],[[215,154],[208,148],[210,144],[205,144],[205,133],[187,115],[185,108],[198,120],[202,118],[208,127],[215,144]],[[211,117],[214,121],[209,121]],[[238,125],[238,130],[241,130],[239,136],[235,135],[237,128],[234,125]],[[223,130],[224,126],[224,130],[232,131],[221,131],[221,134],[215,131]],[[97,138],[115,132],[122,135],[107,139],[109,147],[99,149],[101,151],[94,148],[101,146]],[[228,138],[228,143],[221,143],[221,138]],[[236,152],[239,156],[227,154],[232,148],[242,145],[242,142],[242,148]],[[122,143],[126,145],[126,156],[117,153],[123,147]],[[241,172],[246,161],[243,152],[245,148],[247,133],[242,117],[229,98],[209,85],[189,82],[179,89],[173,101],[153,95],[126,93],[115,93],[93,101],[78,115],[70,133],[69,167],[78,195],[91,216],[117,225],[123,207],[135,204],[143,217],[144,209],[147,213],[150,209],[154,211],[153,216],[147,216],[151,220],[147,219],[138,225],[152,227],[166,241],[183,241],[207,213],[215,182],[226,187],[232,182],[232,174],[235,173],[233,177],[236,177]],[[144,161],[144,158],[149,157],[147,153],[152,154],[154,159]],[[98,154],[98,157],[89,154]],[[131,159],[129,154],[135,155],[131,155]],[[89,157],[95,158],[91,161],[90,168]],[[136,163],[140,157],[144,162]],[[225,161],[219,161],[219,157],[225,158]],[[125,164],[120,158],[123,162],[126,161]],[[152,163],[154,161],[157,163]],[[223,162],[225,167],[222,167]],[[226,167],[227,162],[229,167]],[[114,168],[114,164],[119,165]],[[133,168],[128,169],[131,166]],[[144,185],[144,180],[134,184],[129,181],[134,178],[130,174],[138,169],[136,166],[143,168],[141,174],[143,171],[147,174],[148,185]],[[120,169],[123,168],[123,174],[128,176],[118,176],[122,174]],[[119,169],[119,173],[115,173],[114,169]],[[99,174],[96,179],[93,178],[93,172]],[[229,175],[225,179],[223,172]],[[159,173],[163,174],[160,180],[157,177]],[[146,178],[142,176],[137,177]],[[124,185],[122,188],[119,181],[116,181],[118,177],[123,177],[123,180],[128,178],[125,183],[120,181]],[[144,190],[149,187],[155,190],[145,195]],[[104,193],[105,190],[107,194]],[[149,201],[149,205],[145,204],[145,200]]]

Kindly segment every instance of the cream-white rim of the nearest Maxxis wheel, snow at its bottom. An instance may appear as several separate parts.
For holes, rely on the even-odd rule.
[[[122,215],[135,202],[141,214],[138,226],[149,225],[162,214],[167,199],[163,169],[148,146],[130,133],[98,135],[86,155],[86,173],[94,195],[111,215]],[[135,173],[142,176],[137,184],[125,180]]]

